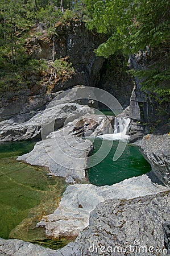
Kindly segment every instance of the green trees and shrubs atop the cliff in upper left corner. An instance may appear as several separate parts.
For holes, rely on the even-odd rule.
[[[12,65],[23,64],[24,39],[35,24],[43,24],[55,40],[55,24],[59,21],[68,22],[77,15],[76,12],[82,14],[84,1],[1,0],[0,65],[9,65],[9,62]]]

